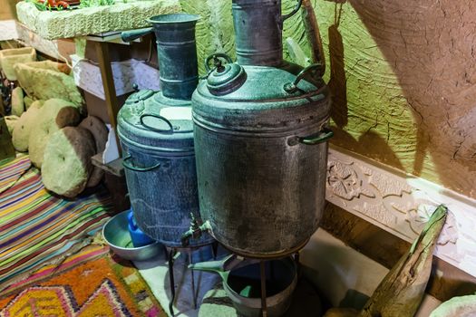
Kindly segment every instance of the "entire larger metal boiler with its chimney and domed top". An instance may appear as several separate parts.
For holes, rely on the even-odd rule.
[[[265,3],[262,14],[251,14]],[[192,97],[200,215],[222,245],[251,257],[304,245],[325,200],[328,89],[314,67],[284,62],[282,46],[267,43],[269,34],[281,36],[271,17],[279,3],[233,1],[241,71],[215,61]],[[251,27],[263,19],[263,30]]]

